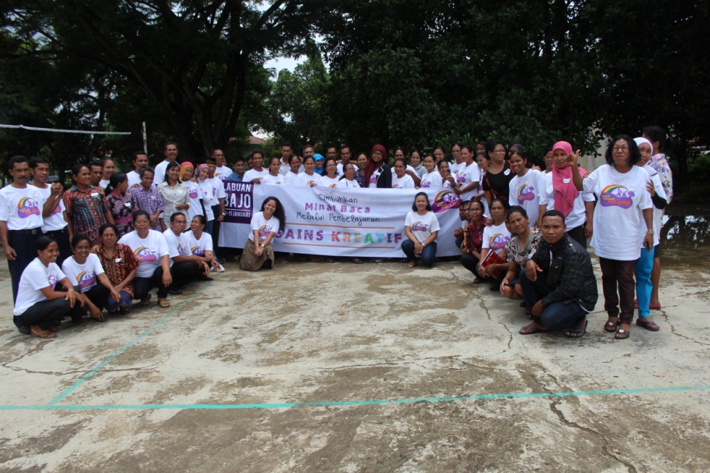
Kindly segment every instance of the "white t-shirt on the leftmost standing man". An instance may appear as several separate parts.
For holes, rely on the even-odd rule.
[[[7,222],[8,230],[31,230],[43,225],[40,189],[6,186],[0,189],[0,220]]]

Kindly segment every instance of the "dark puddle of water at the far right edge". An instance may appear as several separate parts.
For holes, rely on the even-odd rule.
[[[662,266],[710,269],[710,208],[669,206],[663,221]]]

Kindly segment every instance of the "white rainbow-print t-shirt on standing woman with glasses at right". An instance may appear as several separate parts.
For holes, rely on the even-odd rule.
[[[652,207],[646,190],[649,180],[648,172],[638,166],[622,174],[613,165],[601,165],[582,181],[584,191],[594,192],[599,199],[590,243],[598,257],[638,260],[646,233],[643,209]]]

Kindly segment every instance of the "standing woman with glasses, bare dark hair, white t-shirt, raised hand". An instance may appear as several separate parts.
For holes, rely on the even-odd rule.
[[[599,198],[594,207],[591,246],[599,257],[607,332],[616,340],[629,338],[633,321],[633,274],[639,248],[653,250],[653,209],[647,183],[650,181],[636,163],[641,159],[636,142],[618,135],[606,149],[608,165],[600,166],[584,180],[577,161],[579,151],[567,157],[577,190]],[[621,311],[620,311],[621,308]]]

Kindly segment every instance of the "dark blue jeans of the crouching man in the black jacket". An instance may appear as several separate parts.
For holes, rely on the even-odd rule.
[[[525,306],[530,312],[537,301],[550,294],[546,272],[537,273],[537,281],[530,281],[525,271],[520,272],[520,286],[523,288]],[[567,299],[567,301],[550,304],[542,311],[542,316],[535,317],[533,320],[547,330],[567,330],[579,325],[585,317],[586,311],[581,308],[579,302],[575,299]]]

